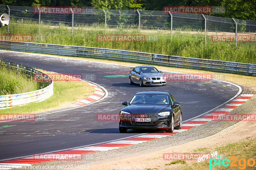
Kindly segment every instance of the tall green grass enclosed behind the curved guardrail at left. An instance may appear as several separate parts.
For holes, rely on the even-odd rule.
[[[25,93],[40,89],[40,84],[24,74],[0,67],[0,96]]]

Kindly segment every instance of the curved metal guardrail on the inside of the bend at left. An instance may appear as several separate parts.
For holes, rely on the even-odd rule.
[[[35,70],[34,68],[26,67],[19,65],[17,63],[12,63],[8,61],[0,60],[0,67],[7,67],[10,69],[16,69],[17,74],[25,74],[33,77],[34,74],[43,74],[46,77],[46,74]],[[0,96],[0,109],[10,108],[12,106],[28,104],[31,102],[41,102],[53,94],[53,81],[52,78],[49,77],[49,81],[45,81],[45,86],[43,89],[39,89],[36,91],[31,91],[27,93],[21,94],[13,94],[13,95],[3,95]]]

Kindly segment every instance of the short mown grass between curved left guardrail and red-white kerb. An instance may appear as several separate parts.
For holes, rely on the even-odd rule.
[[[45,74],[49,72],[40,70]],[[53,73],[50,73],[53,75]],[[54,81],[53,95],[43,102],[30,103],[23,106],[14,106],[1,109],[0,115],[31,114],[66,107],[68,104],[91,96],[95,89],[83,81]]]

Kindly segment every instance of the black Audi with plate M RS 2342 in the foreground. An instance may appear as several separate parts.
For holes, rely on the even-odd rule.
[[[142,91],[123,102],[119,112],[119,131],[127,129],[164,129],[173,132],[182,126],[180,103],[169,92]]]

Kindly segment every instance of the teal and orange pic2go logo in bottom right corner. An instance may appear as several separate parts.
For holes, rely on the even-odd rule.
[[[236,156],[231,156],[230,157],[230,160],[234,159],[230,164],[228,163],[229,162],[229,159],[222,159],[222,161],[220,160],[220,156],[218,156],[219,159],[218,159],[218,162],[216,159],[209,159],[209,169],[212,169],[212,167],[216,166],[217,163],[218,163],[218,166],[220,166],[220,163],[222,164],[222,166],[235,166],[237,167],[237,164],[236,164],[236,160],[237,160],[237,157]],[[212,164],[212,162],[214,162]],[[246,163],[248,166],[252,167],[255,165],[255,160],[254,159],[248,159],[247,162],[246,162],[246,159],[239,159],[238,160],[238,165],[239,165],[239,169],[245,169],[246,168]]]

